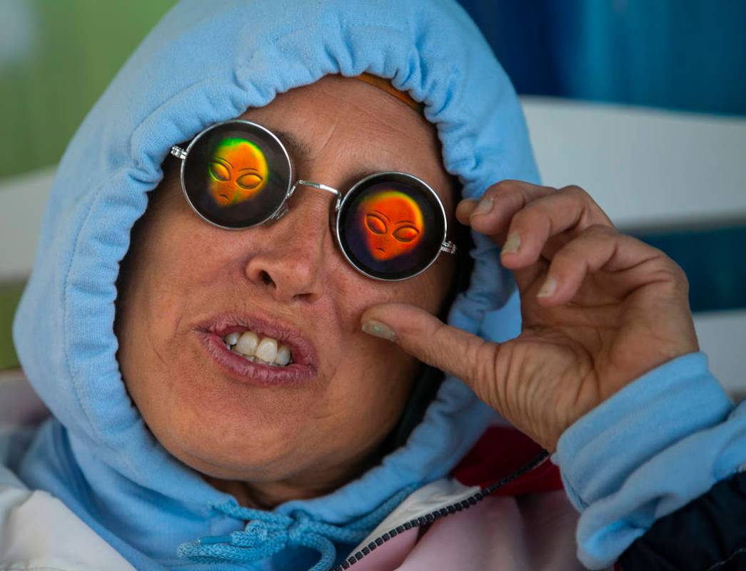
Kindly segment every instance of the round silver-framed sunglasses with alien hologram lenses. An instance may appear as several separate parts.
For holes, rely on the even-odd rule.
[[[339,249],[361,274],[400,281],[421,274],[441,252],[448,223],[437,193],[413,174],[370,174],[342,194],[311,180],[293,180],[292,162],[275,133],[260,124],[232,120],[198,133],[181,159],[181,188],[189,206],[219,228],[242,230],[271,223],[289,210],[298,186],[335,196],[333,233]],[[302,230],[301,230],[302,231]]]

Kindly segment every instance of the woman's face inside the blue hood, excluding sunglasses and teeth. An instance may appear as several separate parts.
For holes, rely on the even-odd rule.
[[[344,191],[368,172],[409,172],[436,189],[453,220],[434,127],[377,87],[329,76],[241,118],[294,139],[296,178]],[[178,169],[166,166],[118,308],[118,358],[134,403],[172,455],[219,487],[242,482],[269,503],[335,488],[366,467],[419,368],[363,333],[360,315],[388,301],[438,312],[454,256],[404,282],[371,280],[334,242],[329,193],[299,187],[275,224],[222,230],[192,212]],[[278,381],[222,364],[209,330],[245,324],[259,338],[289,335],[307,375]]]

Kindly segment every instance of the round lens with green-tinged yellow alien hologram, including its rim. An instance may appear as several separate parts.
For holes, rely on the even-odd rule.
[[[229,121],[204,130],[181,165],[181,185],[202,218],[224,228],[262,224],[283,204],[292,168],[269,130]]]

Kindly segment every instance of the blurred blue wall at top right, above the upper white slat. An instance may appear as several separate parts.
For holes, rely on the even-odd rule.
[[[746,114],[744,0],[461,0],[519,93]]]

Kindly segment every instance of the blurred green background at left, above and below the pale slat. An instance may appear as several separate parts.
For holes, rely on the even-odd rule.
[[[0,133],[13,133],[0,137],[0,179],[59,162],[101,92],[173,4],[0,0]],[[18,365],[10,324],[22,288],[0,281],[0,370]]]

